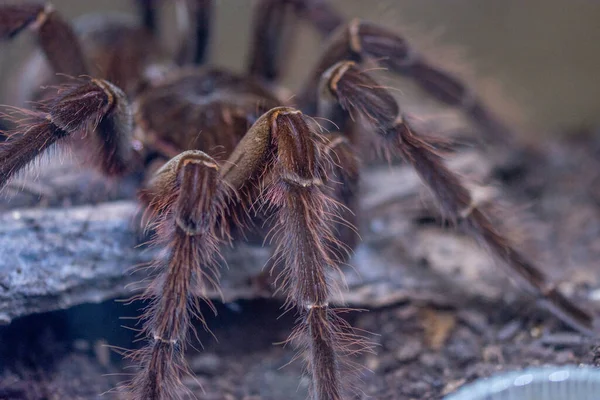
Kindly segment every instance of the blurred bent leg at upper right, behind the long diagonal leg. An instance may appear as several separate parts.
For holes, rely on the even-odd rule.
[[[424,59],[392,30],[358,19],[340,27],[328,42],[299,97],[303,110],[310,114],[316,111],[322,74],[330,66],[345,60],[374,61],[393,73],[411,77],[437,100],[462,109],[484,128],[491,142],[510,143],[513,140],[510,128],[458,77]]]

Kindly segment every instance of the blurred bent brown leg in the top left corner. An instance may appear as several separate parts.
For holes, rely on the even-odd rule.
[[[29,2],[0,5],[0,40],[25,28],[37,31],[40,47],[55,73],[73,77],[88,73],[77,36],[52,6]]]

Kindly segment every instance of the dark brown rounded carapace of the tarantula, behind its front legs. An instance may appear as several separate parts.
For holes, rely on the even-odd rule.
[[[138,97],[136,136],[168,157],[202,149],[223,160],[260,115],[283,104],[260,82],[225,70],[178,71]]]

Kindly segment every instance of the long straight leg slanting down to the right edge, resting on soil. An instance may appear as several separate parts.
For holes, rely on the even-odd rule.
[[[594,316],[561,294],[494,226],[458,176],[444,165],[435,142],[414,129],[410,118],[400,112],[387,89],[352,61],[340,62],[326,71],[322,88],[328,90],[351,117],[362,117],[376,128],[388,150],[402,156],[418,172],[444,214],[453,222],[460,222],[484,247],[504,261],[503,264],[510,267],[511,276],[524,283],[553,314],[582,333],[598,335]]]

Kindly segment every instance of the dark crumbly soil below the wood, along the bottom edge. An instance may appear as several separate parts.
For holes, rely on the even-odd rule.
[[[368,370],[361,374],[364,393],[356,398],[441,399],[499,371],[593,363],[594,341],[548,315],[534,317],[535,311],[503,303],[473,302],[456,310],[409,302],[353,314],[355,327],[377,333],[370,337],[376,354],[361,359]],[[127,312],[136,314],[107,302],[13,322],[2,330],[2,343],[11,345],[3,346],[2,359],[10,367],[0,380],[0,398],[119,398],[106,392],[126,380],[128,371],[107,345],[131,348],[134,333],[119,321]],[[199,331],[204,349],[189,353],[196,377],[187,383],[198,398],[306,398],[301,363],[287,365],[294,350],[278,344],[293,317],[280,315],[275,301],[219,306],[219,317],[209,319],[218,342]]]

